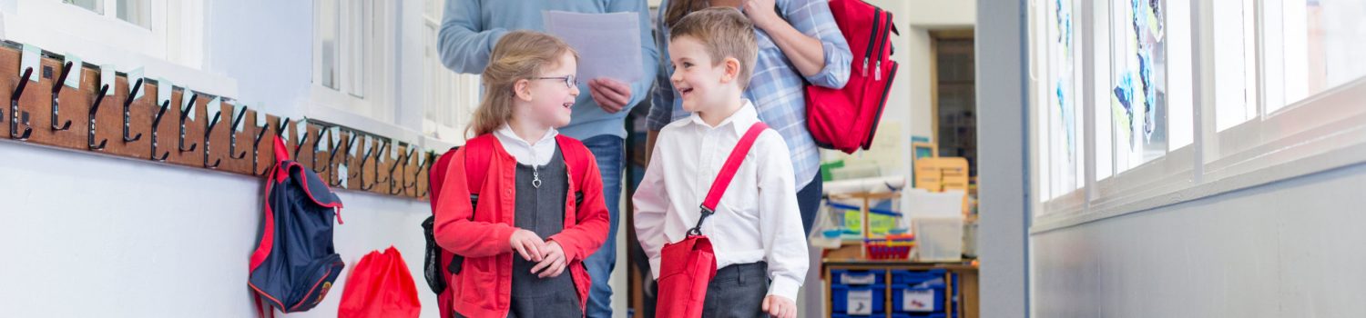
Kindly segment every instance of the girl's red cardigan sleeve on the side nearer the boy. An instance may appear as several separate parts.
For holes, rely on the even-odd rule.
[[[575,213],[576,222],[549,237],[549,240],[560,243],[560,247],[564,248],[564,257],[570,262],[583,261],[602,246],[602,242],[607,240],[609,221],[597,160],[587,149],[582,153],[589,158],[586,160],[587,169],[583,169],[583,183],[579,184],[582,187],[576,188],[583,192],[583,203],[578,206]]]

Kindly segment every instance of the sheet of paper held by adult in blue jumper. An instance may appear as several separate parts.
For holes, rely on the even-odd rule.
[[[564,40],[579,52],[581,83],[612,78],[626,83],[641,81],[641,20],[632,12],[578,14],[544,11],[545,31]]]

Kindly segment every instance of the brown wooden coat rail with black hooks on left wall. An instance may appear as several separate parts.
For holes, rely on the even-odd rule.
[[[19,44],[0,42],[0,139],[138,161],[261,176],[281,136],[292,160],[333,188],[428,199],[426,171],[438,153],[320,120],[238,106],[228,97],[115,74],[40,53],[23,64]],[[112,70],[111,70],[112,71]],[[76,81],[74,76],[78,76]],[[71,78],[75,87],[66,85]],[[158,94],[169,98],[158,102]],[[141,98],[137,96],[141,93]]]

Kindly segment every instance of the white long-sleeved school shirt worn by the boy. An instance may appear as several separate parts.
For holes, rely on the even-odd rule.
[[[754,105],[744,106],[716,127],[697,113],[660,130],[645,179],[631,198],[635,233],[660,277],[660,248],[680,242],[701,217],[702,199],[735,143],[758,121]],[[796,206],[792,158],[777,131],[765,130],[754,141],[716,206],[702,224],[712,240],[716,268],[768,262],[768,295],[796,300],[809,263],[802,214]]]

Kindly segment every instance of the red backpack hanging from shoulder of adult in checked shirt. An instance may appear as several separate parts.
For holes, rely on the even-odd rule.
[[[835,25],[850,44],[854,66],[844,89],[806,86],[806,127],[816,145],[844,153],[867,150],[892,90],[892,12],[862,0],[831,0]]]

